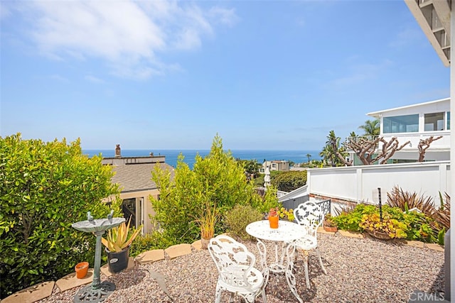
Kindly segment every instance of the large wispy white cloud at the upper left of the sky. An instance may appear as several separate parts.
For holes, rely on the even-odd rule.
[[[63,60],[100,58],[114,75],[146,79],[175,70],[167,50],[200,48],[214,26],[232,26],[233,9],[202,9],[178,1],[34,1],[33,41],[43,55]]]

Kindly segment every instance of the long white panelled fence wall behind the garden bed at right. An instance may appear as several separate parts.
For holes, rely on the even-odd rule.
[[[385,202],[387,192],[397,186],[438,204],[439,192],[451,195],[450,161],[309,169],[307,184],[310,194],[370,203],[377,198],[373,200],[374,189],[381,188]]]

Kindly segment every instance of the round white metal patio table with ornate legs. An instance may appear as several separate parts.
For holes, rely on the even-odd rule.
[[[261,256],[262,265],[265,267],[263,272],[265,283],[269,280],[269,272],[282,273],[286,277],[287,284],[291,289],[291,292],[294,294],[299,302],[303,303],[303,300],[299,296],[296,290],[296,279],[294,273],[294,252],[295,247],[290,243],[298,238],[301,238],[305,229],[304,226],[295,224],[289,221],[279,221],[278,228],[270,228],[268,220],[255,221],[247,225],[245,228],[247,233],[251,236],[254,236],[257,239],[259,249],[259,254]],[[275,248],[275,262],[267,264],[267,251],[266,246],[261,241],[272,241],[274,242]],[[281,243],[281,253],[279,253],[279,244]],[[260,247],[264,248],[264,251]],[[287,258],[287,262],[284,263],[284,258]]]

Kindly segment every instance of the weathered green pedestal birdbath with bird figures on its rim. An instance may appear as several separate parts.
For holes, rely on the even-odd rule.
[[[90,211],[87,212],[87,220],[71,224],[78,231],[95,233],[97,243],[95,246],[95,266],[93,268],[92,285],[88,285],[77,292],[74,302],[102,302],[115,290],[115,285],[109,281],[100,281],[101,264],[101,236],[108,229],[119,226],[125,221],[124,218],[112,218],[112,210],[107,219],[93,219]]]

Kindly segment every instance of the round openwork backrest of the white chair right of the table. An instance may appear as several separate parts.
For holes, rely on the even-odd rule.
[[[324,213],[318,204],[307,201],[294,209],[294,218],[298,224],[306,226],[309,236],[316,236],[316,231],[324,220]]]

